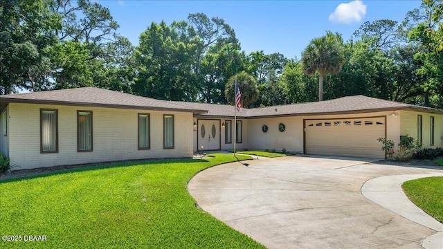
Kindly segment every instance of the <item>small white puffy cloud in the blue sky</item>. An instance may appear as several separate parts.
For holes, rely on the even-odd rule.
[[[329,15],[329,21],[350,24],[354,21],[361,21],[365,15],[366,6],[363,4],[363,1],[355,0],[349,3],[340,3],[334,12]]]

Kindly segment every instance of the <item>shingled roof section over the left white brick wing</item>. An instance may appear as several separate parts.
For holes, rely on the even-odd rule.
[[[120,93],[96,87],[82,87],[33,93],[1,95],[0,102],[20,102],[33,104],[62,104],[84,107],[111,107],[120,109],[149,109],[161,111],[183,111],[207,113],[206,109],[189,107],[165,100],[155,100],[129,93]]]

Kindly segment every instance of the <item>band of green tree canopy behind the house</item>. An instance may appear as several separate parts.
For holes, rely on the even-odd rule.
[[[0,95],[97,86],[228,104],[237,75],[244,107],[362,94],[441,109],[442,24],[442,1],[423,0],[404,21],[367,21],[347,41],[327,31],[298,59],[246,53],[233,27],[204,13],[147,24],[133,46],[98,1],[3,0]]]

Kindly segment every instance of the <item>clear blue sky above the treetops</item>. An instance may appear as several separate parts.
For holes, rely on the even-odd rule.
[[[242,50],[301,57],[311,39],[338,32],[343,39],[365,21],[403,21],[422,1],[145,1],[99,0],[120,25],[118,33],[138,44],[139,35],[152,22],[186,20],[190,13],[223,18],[235,30]]]

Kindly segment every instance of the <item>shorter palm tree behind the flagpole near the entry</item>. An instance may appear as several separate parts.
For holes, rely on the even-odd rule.
[[[226,83],[224,91],[224,95],[230,104],[234,104],[235,102],[235,77],[237,77],[238,88],[240,93],[242,93],[242,106],[248,107],[250,104],[257,101],[260,95],[257,80],[255,80],[253,75],[250,75],[245,71],[230,77]]]

